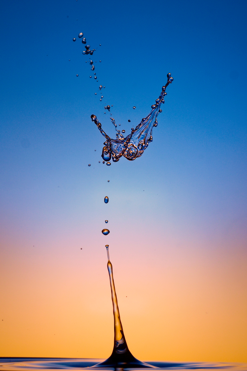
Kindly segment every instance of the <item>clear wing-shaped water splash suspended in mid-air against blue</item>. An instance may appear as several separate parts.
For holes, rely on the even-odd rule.
[[[148,116],[142,119],[139,125],[131,131],[131,134],[127,137],[123,137],[120,131],[116,134],[116,139],[110,138],[101,128],[101,123],[98,121],[95,115],[91,115],[92,121],[97,125],[101,134],[106,138],[103,147],[102,158],[105,161],[116,162],[120,157],[124,156],[128,160],[135,160],[140,157],[144,150],[148,147],[149,142],[152,142],[152,129],[158,125],[157,116],[159,112],[162,112],[161,104],[164,103],[164,97],[167,95],[165,89],[169,84],[171,84],[173,78],[171,73],[167,75],[167,83],[162,86],[162,92],[158,99],[156,99],[155,104],[151,106],[152,111]]]

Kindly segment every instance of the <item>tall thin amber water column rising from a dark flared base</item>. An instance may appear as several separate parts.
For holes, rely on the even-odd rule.
[[[154,368],[154,366],[148,365],[147,363],[141,362],[134,357],[129,351],[128,345],[123,334],[123,326],[120,319],[120,313],[118,309],[118,299],[116,297],[116,290],[113,280],[112,263],[109,258],[109,245],[105,245],[108,257],[107,268],[109,272],[111,292],[112,292],[112,304],[113,304],[113,316],[114,316],[114,345],[113,351],[109,358],[105,361],[95,365],[94,367],[114,367],[115,369],[123,368]]]

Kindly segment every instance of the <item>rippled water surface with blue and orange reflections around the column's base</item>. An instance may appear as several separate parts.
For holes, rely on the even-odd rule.
[[[0,357],[0,367],[3,371],[34,371],[54,370],[63,368],[66,370],[75,370],[81,368],[90,368],[103,359],[89,358],[8,358]],[[211,363],[211,362],[152,362],[146,361],[154,367],[161,370],[226,370],[226,371],[247,371],[247,364],[244,363]],[[93,368],[95,370],[95,368]],[[102,370],[102,368],[101,368]],[[113,368],[105,368],[105,370],[113,370]],[[115,369],[122,370],[122,369]],[[131,370],[129,368],[128,370]],[[135,369],[136,370],[136,369]]]

